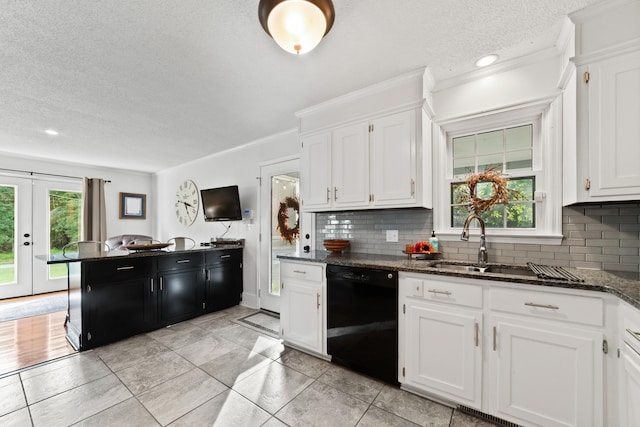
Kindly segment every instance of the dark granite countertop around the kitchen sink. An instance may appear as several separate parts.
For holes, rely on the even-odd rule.
[[[500,282],[523,283],[537,286],[562,287],[570,289],[583,289],[589,291],[607,292],[613,294],[627,303],[640,309],[640,273],[624,271],[602,271],[583,270],[575,268],[564,268],[582,279],[584,282],[573,282],[567,280],[540,279],[536,276],[524,276],[517,274],[502,274],[491,272],[473,272],[450,270],[433,267],[441,261],[455,263],[452,260],[415,260],[408,259],[407,256],[375,255],[361,253],[332,253],[326,251],[315,251],[308,253],[291,253],[278,255],[280,259],[295,261],[318,262],[333,265],[345,265],[362,268],[378,268],[392,271],[405,271],[413,273],[439,274],[444,276],[467,277],[472,279],[485,279]],[[471,262],[460,262],[461,264],[473,264]],[[492,264],[489,266],[500,267],[503,264]],[[526,268],[526,267],[523,267]]]

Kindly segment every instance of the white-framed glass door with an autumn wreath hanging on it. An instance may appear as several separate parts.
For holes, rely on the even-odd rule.
[[[300,250],[299,160],[287,160],[260,168],[260,308],[280,312],[280,260],[282,253]],[[282,207],[284,204],[284,207]],[[278,215],[281,209],[286,220]],[[298,231],[296,232],[296,224]]]

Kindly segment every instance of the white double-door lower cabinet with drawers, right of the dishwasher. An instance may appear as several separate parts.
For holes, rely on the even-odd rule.
[[[523,426],[602,426],[603,300],[530,288],[401,274],[403,388]]]

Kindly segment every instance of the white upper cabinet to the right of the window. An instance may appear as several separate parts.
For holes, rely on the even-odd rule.
[[[596,4],[571,19],[577,130],[565,203],[640,199],[640,2]]]

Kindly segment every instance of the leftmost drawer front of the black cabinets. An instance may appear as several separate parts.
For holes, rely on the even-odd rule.
[[[101,261],[85,261],[82,263],[82,269],[88,284],[120,282],[151,277],[153,258],[111,258]]]

